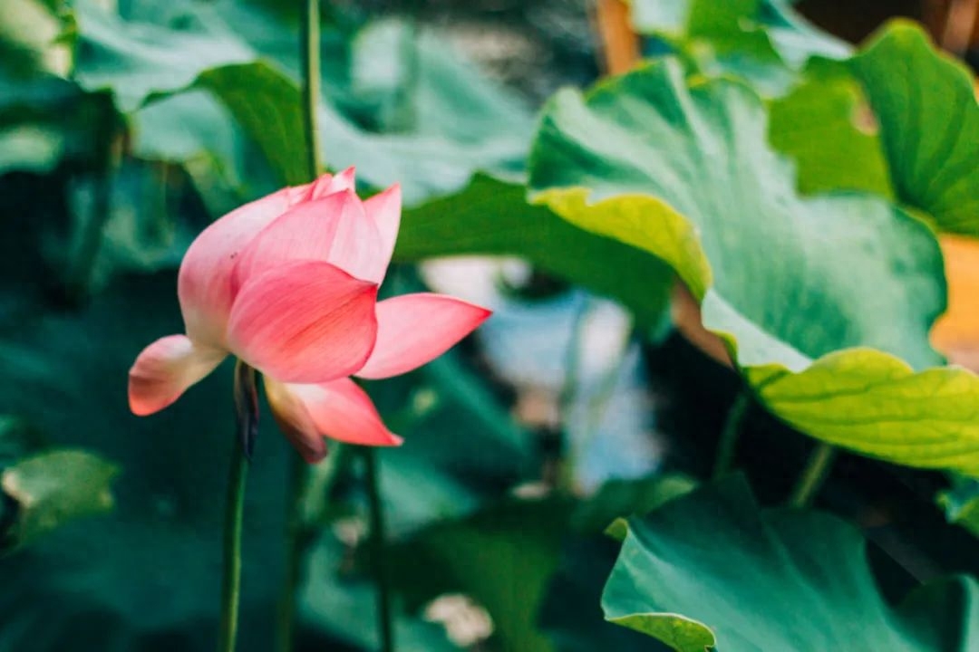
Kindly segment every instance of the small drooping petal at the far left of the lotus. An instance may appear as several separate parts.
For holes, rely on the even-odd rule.
[[[163,410],[226,356],[226,351],[195,346],[186,335],[158,339],[129,369],[129,409],[138,416]]]

